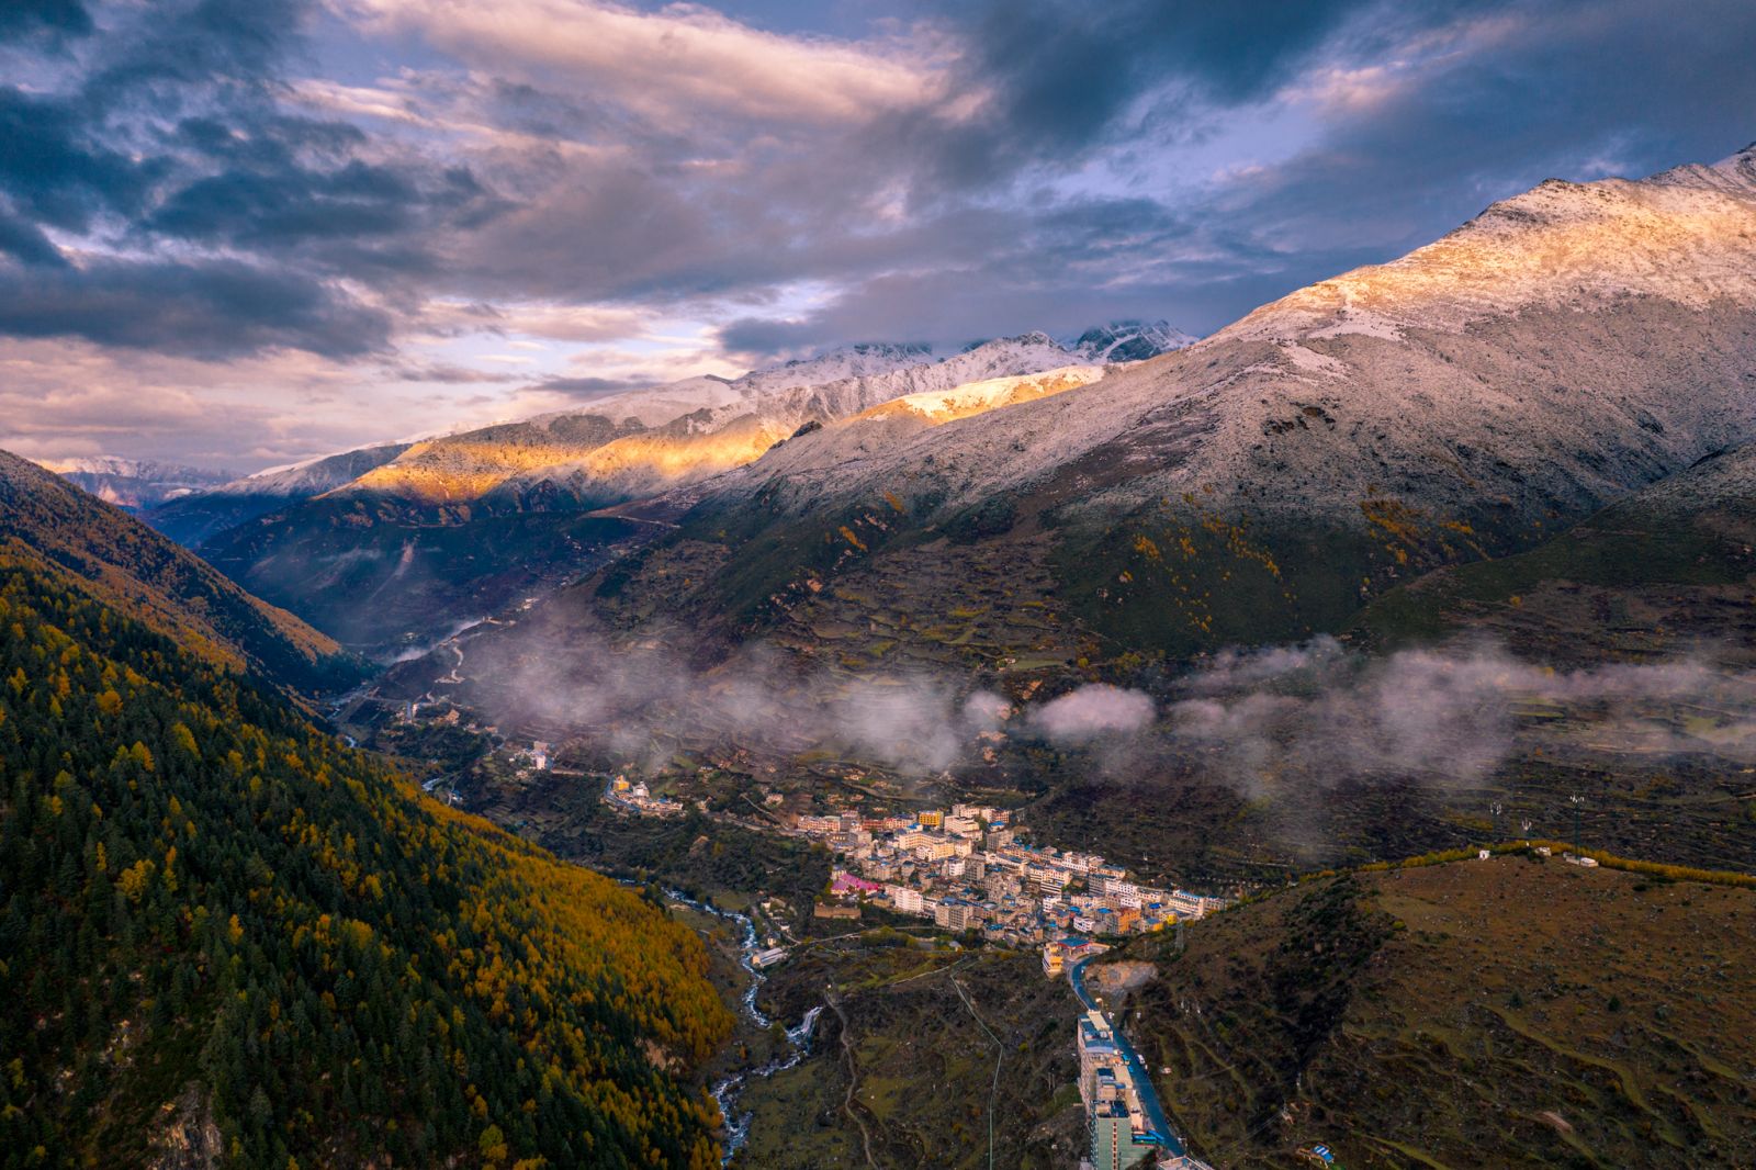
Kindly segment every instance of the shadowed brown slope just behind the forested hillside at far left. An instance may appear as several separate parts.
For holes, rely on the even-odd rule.
[[[251,597],[119,508],[0,451],[0,546],[77,578],[105,604],[184,648],[311,692],[353,682],[330,638]]]

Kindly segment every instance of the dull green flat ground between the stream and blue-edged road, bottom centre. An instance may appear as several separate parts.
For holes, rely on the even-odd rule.
[[[990,1093],[994,1165],[1075,1161],[1078,1005],[1034,954],[825,943],[764,989],[788,1024],[825,1001],[811,1058],[741,1100],[755,1124],[734,1165],[987,1166]]]

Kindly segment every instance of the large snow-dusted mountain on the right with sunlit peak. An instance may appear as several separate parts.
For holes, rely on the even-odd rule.
[[[964,557],[887,552],[896,532],[976,532],[1022,541],[1045,596],[1108,645],[1301,638],[1422,567],[1526,548],[1756,439],[1752,337],[1756,148],[1549,181],[1075,394],[874,443],[855,423],[802,434],[697,488],[678,539],[806,548],[852,518],[838,569],[896,580]],[[892,513],[908,522],[860,527]],[[741,569],[736,596],[783,606],[797,564],[766,564],[773,580]],[[720,590],[706,578],[674,604],[702,627]]]

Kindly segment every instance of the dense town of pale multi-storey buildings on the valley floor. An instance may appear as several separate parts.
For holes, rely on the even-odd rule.
[[[839,903],[869,903],[954,931],[980,929],[999,942],[1145,933],[1226,905],[1140,885],[1098,854],[1024,843],[1001,810],[980,805],[911,817],[801,815],[792,827],[841,857],[831,887]]]

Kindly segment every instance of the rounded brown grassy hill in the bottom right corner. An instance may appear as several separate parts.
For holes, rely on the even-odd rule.
[[[1161,977],[1127,1014],[1215,1165],[1747,1165],[1752,947],[1756,891],[1500,856],[1134,943]]]

